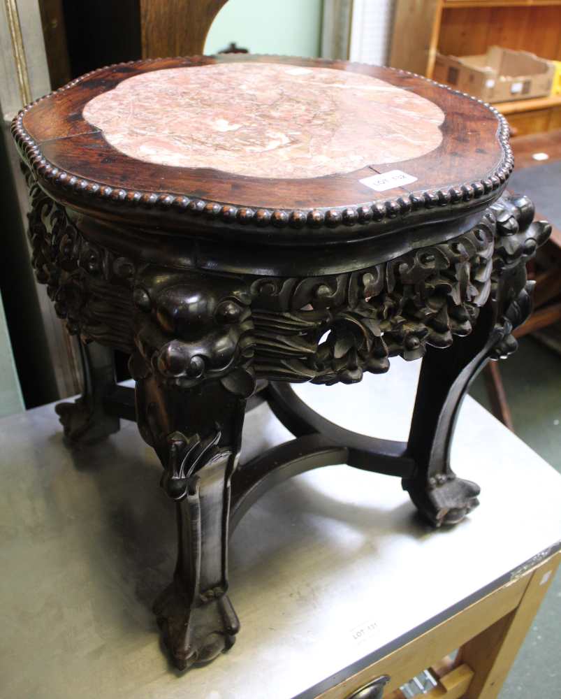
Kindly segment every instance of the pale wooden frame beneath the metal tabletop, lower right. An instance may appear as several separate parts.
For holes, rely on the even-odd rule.
[[[453,669],[439,677],[439,686],[423,696],[495,698],[560,560],[560,552],[549,556],[442,624],[322,693],[318,699],[347,699],[356,689],[381,675],[390,677],[384,697],[402,699],[404,695],[399,691],[402,684],[458,648],[460,653]]]

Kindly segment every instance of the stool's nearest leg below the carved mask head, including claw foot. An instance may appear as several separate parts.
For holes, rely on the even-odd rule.
[[[178,390],[153,375],[137,380],[136,400],[140,432],[161,459],[161,485],[177,510],[173,582],[154,612],[184,670],[230,648],[240,626],[226,591],[231,475],[246,401],[219,380]]]

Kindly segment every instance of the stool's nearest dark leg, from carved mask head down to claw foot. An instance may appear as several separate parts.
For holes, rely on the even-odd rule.
[[[147,268],[134,298],[138,428],[159,456],[177,512],[177,564],[154,611],[184,670],[230,648],[239,628],[226,596],[228,519],[255,388],[253,324],[238,280]]]

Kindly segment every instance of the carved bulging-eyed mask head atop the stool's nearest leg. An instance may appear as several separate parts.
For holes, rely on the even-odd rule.
[[[251,297],[236,278],[149,267],[134,287],[133,301],[140,354],[132,362],[135,378],[151,370],[189,388],[224,375],[238,357],[253,355]]]

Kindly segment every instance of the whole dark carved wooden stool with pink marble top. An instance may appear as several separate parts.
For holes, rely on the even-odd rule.
[[[37,278],[94,341],[85,394],[59,406],[66,435],[136,419],[177,503],[155,605],[177,667],[233,644],[228,531],[279,480],[333,463],[395,475],[436,526],[477,504],[449,464],[454,424],[476,372],[516,348],[525,262],[550,230],[501,196],[496,110],[402,71],[231,55],[94,71],[13,134]],[[131,354],[136,411],[104,347]],[[335,426],[289,385],[356,382],[398,355],[423,357],[407,443]],[[256,380],[296,438],[237,469]]]

